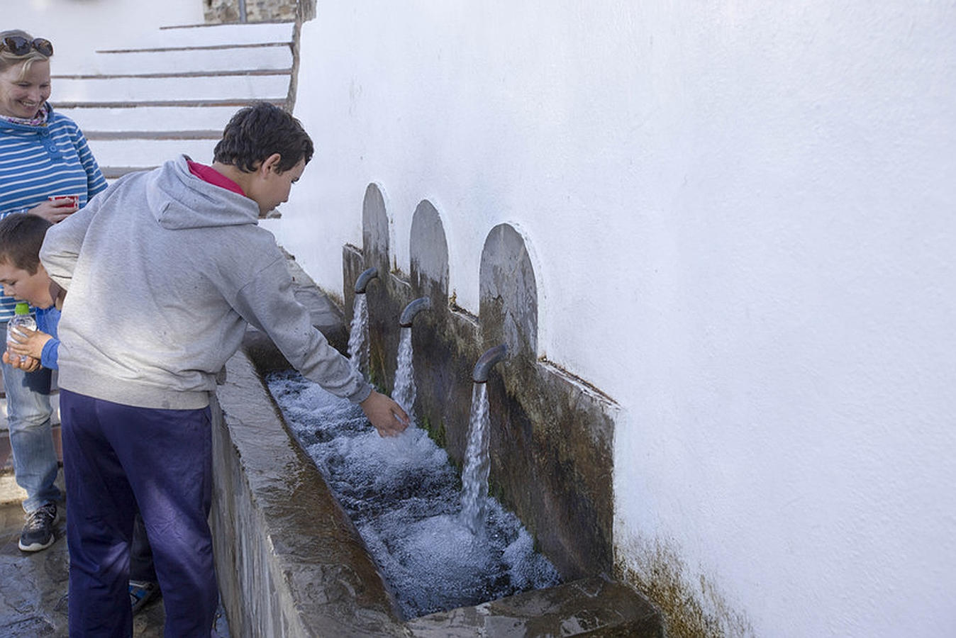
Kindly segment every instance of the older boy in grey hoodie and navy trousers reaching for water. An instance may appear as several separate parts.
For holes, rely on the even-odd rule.
[[[270,104],[229,120],[211,166],[185,156],[116,181],[47,231],[40,261],[69,290],[59,326],[70,635],[131,635],[125,556],[139,504],[165,635],[209,635],[217,601],[209,393],[247,325],[383,436],[407,415],[315,330],[258,220],[312,159]]]

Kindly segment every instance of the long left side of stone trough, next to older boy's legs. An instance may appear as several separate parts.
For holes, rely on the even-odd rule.
[[[230,634],[406,635],[358,531],[244,352],[217,395],[212,528]]]

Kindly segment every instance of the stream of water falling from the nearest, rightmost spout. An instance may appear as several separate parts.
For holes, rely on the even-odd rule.
[[[477,534],[485,521],[488,501],[488,384],[471,388],[471,417],[468,421],[468,445],[462,469],[462,523]]]

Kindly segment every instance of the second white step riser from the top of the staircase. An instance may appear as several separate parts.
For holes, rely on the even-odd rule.
[[[100,74],[198,73],[236,70],[289,70],[293,52],[288,44],[228,49],[100,53]],[[54,77],[56,75],[54,68]],[[55,80],[54,80],[55,81]]]

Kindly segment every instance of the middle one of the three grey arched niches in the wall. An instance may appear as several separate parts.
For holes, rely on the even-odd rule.
[[[412,216],[411,284],[414,296],[429,297],[432,308],[445,308],[448,298],[448,242],[435,206],[423,200]]]

